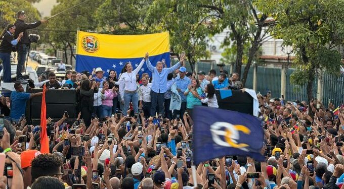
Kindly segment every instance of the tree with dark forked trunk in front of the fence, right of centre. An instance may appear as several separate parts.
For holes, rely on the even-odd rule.
[[[214,12],[221,22],[222,27],[231,29],[223,46],[230,46],[226,52],[236,52],[236,55],[224,54],[225,58],[235,57],[235,72],[241,76],[241,67],[246,63],[241,82],[246,83],[249,68],[256,54],[259,52],[263,41],[269,37],[269,30],[272,27],[266,23],[268,15],[256,11],[250,0],[233,0],[233,1],[208,1],[201,7]],[[265,28],[265,32],[263,29]],[[246,62],[244,60],[247,60]]]

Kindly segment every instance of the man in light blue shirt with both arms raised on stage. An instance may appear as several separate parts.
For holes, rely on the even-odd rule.
[[[156,67],[153,67],[146,53],[147,59],[146,64],[148,70],[152,72],[152,87],[151,87],[151,116],[155,116],[156,113],[164,113],[164,96],[167,91],[167,75],[181,66],[181,62],[184,61],[184,56],[181,57],[180,61],[173,67],[163,68],[162,62],[156,62]],[[158,109],[156,109],[158,106]]]

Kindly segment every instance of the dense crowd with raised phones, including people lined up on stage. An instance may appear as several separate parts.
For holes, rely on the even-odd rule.
[[[10,39],[14,30],[9,26],[4,34]],[[15,45],[23,36],[6,41]],[[218,108],[216,90],[243,86],[239,74],[222,67],[219,76],[187,72],[184,58],[170,68],[163,60],[154,67],[146,53],[136,69],[127,62],[118,77],[111,70],[105,78],[96,68],[67,72],[63,81],[49,73],[46,81],[29,82],[30,88],[75,90],[77,118],[49,117],[46,130],[23,116],[26,101],[42,93],[26,93],[15,83],[11,96],[0,100],[0,188],[344,189],[344,106],[325,107],[317,99],[257,94],[265,134],[257,142],[264,142],[266,161],[233,154],[194,165],[193,108]],[[143,64],[150,77],[138,74]],[[50,153],[40,153],[42,131]]]

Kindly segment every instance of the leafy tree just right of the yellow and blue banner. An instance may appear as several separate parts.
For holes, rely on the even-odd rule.
[[[216,15],[200,6],[206,2],[156,0],[145,19],[150,31],[169,32],[172,54],[185,51],[192,70],[197,59],[206,56],[208,34],[220,31]]]

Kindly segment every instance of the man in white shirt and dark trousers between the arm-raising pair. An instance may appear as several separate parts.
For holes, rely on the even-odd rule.
[[[140,108],[143,109],[144,116],[149,117],[150,109],[151,109],[150,92],[151,92],[152,83],[148,83],[148,80],[146,77],[142,77],[141,82],[143,85],[141,85],[139,88]]]

